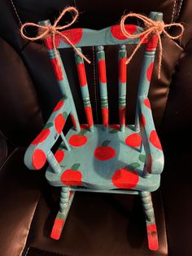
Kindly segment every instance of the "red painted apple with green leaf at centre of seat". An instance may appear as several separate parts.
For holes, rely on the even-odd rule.
[[[116,151],[109,145],[111,141],[105,140],[102,145],[94,150],[94,157],[100,161],[107,161],[116,156]]]

